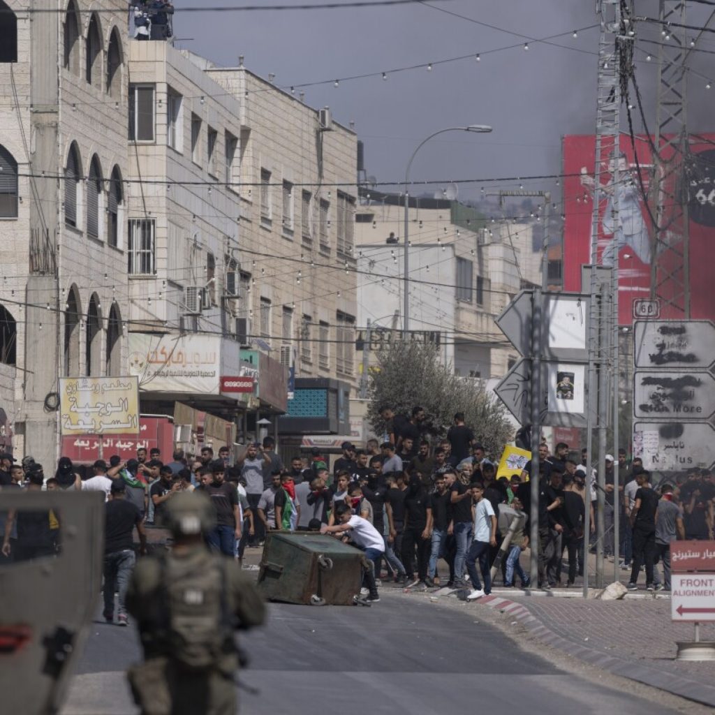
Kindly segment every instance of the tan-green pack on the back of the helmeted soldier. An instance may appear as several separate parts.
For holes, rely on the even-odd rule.
[[[187,668],[209,669],[235,652],[235,621],[226,600],[224,559],[200,563],[162,558],[159,613],[161,640],[169,657]]]

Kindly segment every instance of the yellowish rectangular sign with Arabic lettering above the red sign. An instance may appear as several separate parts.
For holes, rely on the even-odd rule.
[[[137,378],[60,378],[63,435],[139,433]]]

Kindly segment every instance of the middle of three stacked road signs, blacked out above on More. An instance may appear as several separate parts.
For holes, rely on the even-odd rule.
[[[637,418],[707,420],[715,413],[715,378],[708,372],[636,370],[633,415]]]

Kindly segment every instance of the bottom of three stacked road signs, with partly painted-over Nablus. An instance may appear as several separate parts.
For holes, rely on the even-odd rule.
[[[710,468],[715,463],[715,428],[707,422],[633,423],[633,456],[647,470]]]

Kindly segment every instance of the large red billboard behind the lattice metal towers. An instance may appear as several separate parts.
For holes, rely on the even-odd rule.
[[[715,280],[711,260],[715,247],[715,134],[691,135],[689,157],[684,172],[672,172],[668,192],[689,191],[689,246],[684,250],[682,222],[672,205],[664,205],[661,225],[666,227],[666,240],[673,250],[654,256],[655,210],[644,201],[654,169],[651,142],[636,137],[636,164],[633,142],[621,136],[618,152],[607,147],[601,166],[595,167],[596,138],[593,134],[563,138],[563,288],[581,290],[581,266],[591,263],[591,216],[593,189],[601,184],[598,207],[598,265],[613,265],[618,251],[618,309],[621,325],[631,325],[634,315],[682,319],[667,301],[651,303],[651,265],[654,260],[676,267],[678,255],[687,255],[690,282],[691,319],[715,318]],[[668,157],[663,157],[668,159]],[[613,169],[618,162],[619,180],[613,184]],[[641,185],[642,182],[642,185]],[[687,184],[687,186],[686,186]],[[613,196],[618,192],[619,218],[613,220]],[[666,203],[666,202],[664,202]],[[685,260],[685,259],[681,259]],[[659,289],[669,295],[674,283]],[[638,311],[634,314],[634,310]],[[659,311],[659,314],[656,314]]]

